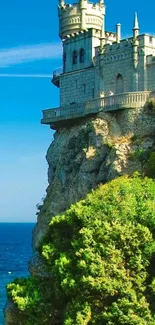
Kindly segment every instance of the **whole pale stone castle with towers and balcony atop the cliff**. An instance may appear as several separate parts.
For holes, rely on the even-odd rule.
[[[43,110],[43,124],[57,129],[101,110],[143,107],[155,90],[155,37],[139,34],[135,13],[133,34],[121,39],[105,30],[103,0],[59,0],[62,69],[53,72],[60,88],[60,107]]]

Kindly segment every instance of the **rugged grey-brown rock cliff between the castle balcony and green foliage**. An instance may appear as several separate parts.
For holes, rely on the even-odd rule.
[[[38,207],[31,274],[47,276],[37,251],[52,216],[85,197],[100,183],[134,171],[147,174],[154,151],[155,115],[148,109],[101,112],[57,130],[46,156],[49,186],[43,204]],[[17,313],[16,319],[9,307],[5,313],[6,325],[17,324]]]

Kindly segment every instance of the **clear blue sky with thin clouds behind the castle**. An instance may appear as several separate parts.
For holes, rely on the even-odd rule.
[[[40,119],[42,109],[59,105],[50,82],[61,66],[57,2],[0,3],[0,222],[36,221],[47,187],[45,155],[53,132]],[[153,0],[107,0],[106,6],[106,30],[120,22],[128,37],[137,11],[141,33],[155,34]]]

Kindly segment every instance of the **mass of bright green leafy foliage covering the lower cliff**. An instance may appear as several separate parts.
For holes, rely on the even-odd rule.
[[[40,247],[50,280],[8,285],[27,325],[155,325],[155,183],[126,176],[56,216]]]

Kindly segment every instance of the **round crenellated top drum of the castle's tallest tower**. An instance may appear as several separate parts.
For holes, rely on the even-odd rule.
[[[60,4],[59,35],[62,39],[67,35],[94,28],[103,29],[105,6],[100,3],[90,3],[87,0],[74,4]]]

